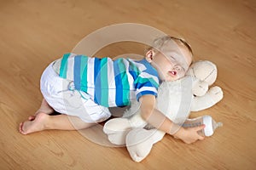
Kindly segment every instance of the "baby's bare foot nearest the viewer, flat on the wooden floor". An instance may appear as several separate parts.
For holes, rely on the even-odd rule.
[[[42,131],[45,129],[45,122],[47,121],[49,115],[44,112],[40,112],[37,116],[34,116],[32,120],[20,123],[20,133],[28,134]]]

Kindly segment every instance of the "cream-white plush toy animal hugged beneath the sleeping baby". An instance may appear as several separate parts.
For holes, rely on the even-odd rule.
[[[221,88],[216,86],[208,90],[216,78],[216,65],[210,61],[197,61],[190,66],[186,77],[174,82],[161,83],[156,108],[172,122],[183,124],[190,111],[207,109],[223,98]],[[165,135],[143,120],[139,106],[139,102],[132,102],[131,108],[125,111],[123,117],[113,118],[103,127],[109,141],[112,144],[125,144],[134,161],[142,161],[148,156],[153,144]]]

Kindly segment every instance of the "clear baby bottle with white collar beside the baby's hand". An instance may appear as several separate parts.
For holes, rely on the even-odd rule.
[[[206,127],[201,131],[198,131],[198,133],[201,136],[207,136],[207,137],[212,136],[216,128],[223,126],[222,122],[215,122],[212,119],[212,116],[206,115],[206,116],[196,117],[194,119],[187,119],[183,123],[183,127],[198,127],[198,126],[201,126],[202,124],[206,125]]]

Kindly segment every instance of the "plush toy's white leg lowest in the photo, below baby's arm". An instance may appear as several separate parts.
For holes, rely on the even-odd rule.
[[[163,139],[165,133],[157,129],[132,129],[126,136],[126,147],[133,161],[143,161],[153,144]]]

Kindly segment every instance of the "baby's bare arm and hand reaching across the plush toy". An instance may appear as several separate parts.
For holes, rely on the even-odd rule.
[[[187,144],[191,144],[196,140],[204,139],[204,137],[200,136],[197,131],[200,131],[205,126],[202,125],[200,127],[177,127],[175,123],[173,123],[170,119],[168,119],[163,113],[154,108],[155,105],[155,97],[154,95],[143,95],[140,98],[141,102],[141,114],[143,119],[156,127],[157,129],[172,134],[178,139],[182,139],[183,142]],[[178,129],[178,130],[177,130]]]

